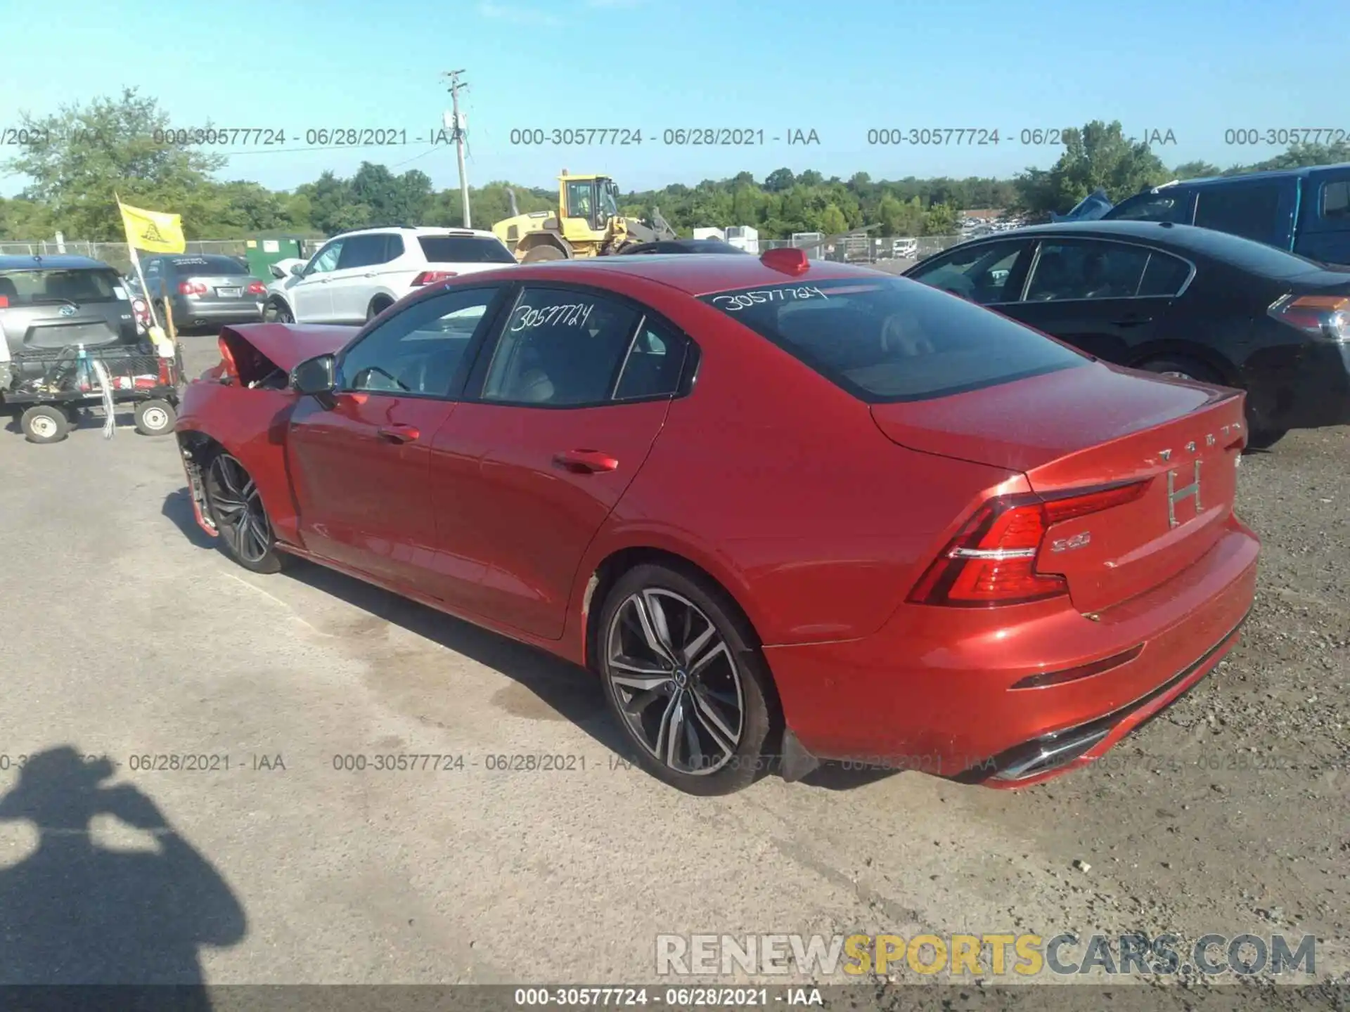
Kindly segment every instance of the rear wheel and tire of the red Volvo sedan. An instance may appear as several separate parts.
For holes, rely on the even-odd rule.
[[[667,565],[637,565],[610,588],[598,621],[605,698],[648,773],[713,796],[768,770],[765,745],[778,725],[768,664],[720,587]]]

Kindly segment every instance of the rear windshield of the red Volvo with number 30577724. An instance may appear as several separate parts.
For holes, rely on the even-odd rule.
[[[1087,364],[1021,324],[903,278],[703,296],[855,397],[919,401]]]

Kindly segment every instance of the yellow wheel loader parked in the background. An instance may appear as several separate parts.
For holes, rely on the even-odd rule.
[[[520,213],[513,192],[506,196],[512,216],[493,225],[493,233],[521,263],[608,256],[636,243],[675,237],[657,209],[651,223],[620,215],[618,186],[608,175],[568,175],[564,169],[558,177],[558,208],[532,215]]]

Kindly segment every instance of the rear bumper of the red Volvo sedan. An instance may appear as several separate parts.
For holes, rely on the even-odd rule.
[[[865,640],[765,654],[811,756],[1023,787],[1102,756],[1222,660],[1251,607],[1258,551],[1233,518],[1183,573],[1095,619],[1062,600],[905,605]],[[1098,673],[1014,688],[1111,658]]]

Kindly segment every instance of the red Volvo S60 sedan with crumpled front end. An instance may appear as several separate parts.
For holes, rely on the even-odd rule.
[[[525,264],[220,347],[178,440],[225,552],[587,665],[693,793],[822,758],[1045,780],[1253,600],[1239,391],[802,250]]]

